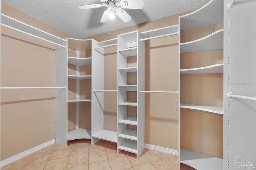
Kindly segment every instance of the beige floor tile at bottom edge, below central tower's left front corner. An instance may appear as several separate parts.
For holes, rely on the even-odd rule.
[[[109,163],[112,170],[124,170],[132,168],[132,164],[130,164],[130,161],[126,156],[109,159]]]

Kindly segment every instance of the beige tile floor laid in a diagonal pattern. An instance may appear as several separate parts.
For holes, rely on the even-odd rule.
[[[99,141],[90,145],[88,139],[58,144],[30,154],[1,170],[178,170],[178,156],[144,149],[140,158],[126,151],[116,153],[116,143]],[[180,170],[195,170],[181,164]]]

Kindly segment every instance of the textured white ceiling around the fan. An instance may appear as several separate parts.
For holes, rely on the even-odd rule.
[[[125,9],[132,17],[128,23],[124,23],[117,16],[109,21],[109,31],[194,10],[209,1],[144,0],[145,6],[142,10]],[[106,7],[78,9],[78,5],[100,2],[100,0],[2,0],[2,3],[78,39],[107,32],[108,23],[100,22]]]

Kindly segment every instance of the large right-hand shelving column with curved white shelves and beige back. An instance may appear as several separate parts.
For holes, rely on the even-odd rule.
[[[187,14],[185,16],[180,16],[179,18],[179,35],[180,35],[180,41],[182,38],[182,31],[186,29],[200,29],[205,26],[209,25],[214,25],[214,24],[219,24],[223,23],[223,1],[222,0],[211,0],[208,4],[200,8],[199,10],[196,10],[190,14]],[[189,42],[180,42],[179,41],[179,46],[180,46],[180,63],[181,66],[183,67],[180,69],[180,101],[185,101],[189,103],[181,103],[180,104],[180,113],[179,113],[179,148],[180,148],[180,163],[187,164],[189,166],[192,166],[196,169],[208,169],[208,170],[222,170],[223,169],[223,159],[218,158],[215,156],[210,155],[210,151],[207,150],[202,150],[200,147],[203,147],[202,145],[209,145],[208,143],[206,144],[205,142],[207,139],[211,139],[212,137],[209,136],[211,133],[216,135],[215,133],[218,133],[218,136],[223,137],[223,130],[222,132],[214,131],[212,132],[211,128],[214,129],[223,129],[223,127],[218,127],[214,123],[219,123],[220,119],[223,123],[223,117],[219,115],[223,115],[223,90],[218,91],[218,88],[222,89],[223,88],[223,75],[220,76],[220,74],[223,74],[223,67],[224,63],[218,63],[219,61],[211,61],[210,62],[204,62],[206,60],[206,57],[209,57],[206,51],[211,51],[214,53],[211,57],[216,57],[216,55],[223,55],[223,29],[218,29],[217,31],[210,33],[200,39],[196,39],[193,41]],[[220,51],[220,52],[216,52]],[[222,51],[222,54],[220,54]],[[190,56],[190,60],[192,61],[191,57],[195,57],[194,54],[197,53],[197,55],[201,55],[202,57],[202,64],[198,64],[200,62],[194,62],[196,63],[195,65],[200,65],[199,67],[194,67],[194,68],[184,68],[188,64],[184,64],[184,59],[182,57],[185,56]],[[196,56],[198,57],[198,56]],[[196,58],[198,59],[198,58]],[[195,60],[196,60],[195,59]],[[223,60],[223,59],[222,59]],[[205,64],[207,63],[207,64]],[[210,63],[210,64],[209,64]],[[191,64],[191,62],[189,63]],[[212,76],[212,74],[218,76]],[[191,75],[191,76],[190,76]],[[213,78],[212,78],[213,77]],[[200,86],[201,88],[197,87],[194,88],[193,85],[195,81],[204,81],[204,80],[216,80],[216,77],[218,77],[218,81],[214,83],[220,83],[217,84],[217,87],[214,87],[216,89],[210,89],[208,86],[205,87],[207,83],[201,82]],[[220,78],[222,77],[222,80]],[[215,78],[215,79],[214,79]],[[189,87],[191,86],[191,88]],[[186,89],[185,89],[186,88]],[[192,90],[195,90],[193,92]],[[210,96],[208,92],[202,92],[202,90],[207,89],[208,92],[213,91],[220,94],[216,96],[220,96],[221,98],[214,98]],[[182,91],[183,90],[183,91]],[[201,96],[202,99],[198,98],[197,96]],[[214,98],[210,99],[209,98]],[[200,99],[198,101],[195,101],[194,99]],[[220,101],[222,103],[220,103]],[[212,102],[214,101],[214,102]],[[190,103],[191,102],[191,103]],[[205,103],[211,103],[212,106],[205,105]],[[218,103],[219,102],[219,103]],[[185,118],[185,116],[190,117],[191,115],[196,115],[200,117],[200,120],[202,122],[198,122],[196,120],[193,124],[193,127],[190,127],[190,124],[192,121],[190,118]],[[208,118],[207,118],[208,117]],[[209,121],[209,117],[212,118],[214,117],[214,120],[211,121],[211,125],[203,125],[204,122]],[[187,123],[184,121],[184,119],[189,119],[190,123]],[[213,123],[214,122],[214,123]],[[188,125],[187,125],[188,124]],[[200,127],[206,127],[203,132]],[[184,136],[184,134],[188,135],[188,131],[190,132],[190,137]],[[191,133],[195,133],[196,137]],[[206,135],[207,134],[207,135]],[[191,139],[192,138],[192,139]],[[184,141],[185,139],[185,141]],[[186,141],[189,139],[190,145],[187,145]],[[219,139],[221,140],[221,139]],[[215,140],[214,140],[215,141]],[[217,141],[217,140],[216,140]],[[216,142],[215,141],[215,142]],[[192,145],[192,143],[196,143]],[[200,143],[202,145],[199,147]],[[220,142],[219,142],[220,143]],[[223,142],[222,142],[223,143]],[[211,143],[208,148],[218,148],[222,147],[223,144],[220,146],[214,146],[216,145],[215,143]],[[189,148],[188,149],[182,149],[182,147]],[[199,147],[199,148],[198,148]],[[198,151],[199,150],[199,151]],[[215,149],[216,150],[216,149]],[[202,154],[202,152],[207,152],[208,155]],[[223,152],[223,151],[222,151]],[[216,154],[216,153],[215,153]],[[223,157],[221,155],[220,157]]]

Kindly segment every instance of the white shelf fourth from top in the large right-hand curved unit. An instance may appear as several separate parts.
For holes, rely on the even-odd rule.
[[[217,113],[217,114],[223,114],[223,107],[219,107],[219,106],[204,106],[204,105],[181,103],[180,107],[181,108],[187,108],[187,109],[196,109],[196,110],[208,111],[208,112]]]

